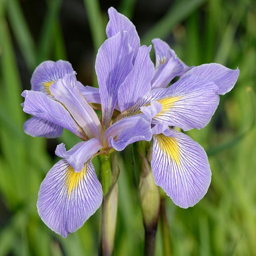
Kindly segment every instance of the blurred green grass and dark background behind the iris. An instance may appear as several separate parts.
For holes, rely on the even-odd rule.
[[[218,62],[241,73],[221,97],[209,125],[187,132],[206,148],[209,191],[180,209],[166,199],[172,255],[256,255],[256,2],[253,0],[0,0],[0,255],[97,255],[100,209],[63,239],[36,210],[39,185],[58,159],[58,140],[23,132],[20,96],[44,60],[69,60],[83,84],[95,85],[94,60],[105,40],[107,9],[135,26],[142,44],[166,40],[188,65]],[[142,255],[144,231],[131,147],[119,158],[118,226],[114,255]],[[160,229],[159,229],[160,231]],[[162,255],[161,232],[156,255]]]

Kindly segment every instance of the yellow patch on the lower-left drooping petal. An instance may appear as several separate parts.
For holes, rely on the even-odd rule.
[[[68,188],[68,196],[71,192],[78,188],[79,183],[86,175],[86,165],[82,168],[81,172],[74,172],[72,166],[68,167],[66,171],[66,186]]]

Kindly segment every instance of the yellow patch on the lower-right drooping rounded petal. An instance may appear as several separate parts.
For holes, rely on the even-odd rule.
[[[177,140],[173,137],[167,137],[163,134],[154,135],[158,140],[160,150],[166,154],[169,159],[176,162],[180,166],[180,148]]]

